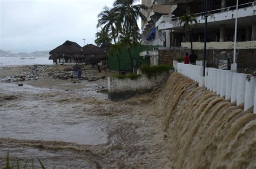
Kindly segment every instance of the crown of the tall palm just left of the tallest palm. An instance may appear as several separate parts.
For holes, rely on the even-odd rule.
[[[99,13],[98,15],[98,24],[97,28],[99,26],[104,26],[103,28],[106,31],[110,31],[112,39],[114,40],[114,43],[116,43],[116,38],[117,38],[117,32],[118,29],[120,28],[119,26],[119,13],[116,11],[116,9],[111,9],[105,6],[103,8],[103,11]]]

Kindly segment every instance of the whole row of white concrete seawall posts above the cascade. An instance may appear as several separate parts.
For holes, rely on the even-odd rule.
[[[184,63],[178,63],[177,71],[231,103],[244,104],[245,111],[254,106],[256,113],[255,76],[207,67],[203,77],[203,66]]]

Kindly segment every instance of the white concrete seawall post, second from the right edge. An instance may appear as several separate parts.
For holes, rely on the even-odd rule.
[[[237,106],[245,103],[245,82],[247,75],[239,73],[237,77]]]

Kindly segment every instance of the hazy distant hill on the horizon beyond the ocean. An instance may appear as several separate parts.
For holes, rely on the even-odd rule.
[[[35,51],[31,53],[11,53],[11,51],[4,51],[0,49],[0,57],[21,57],[21,58],[38,58],[49,57],[49,51]]]

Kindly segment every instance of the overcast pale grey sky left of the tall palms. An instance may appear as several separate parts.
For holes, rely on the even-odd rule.
[[[0,0],[0,49],[52,50],[65,40],[94,44],[97,15],[114,0]]]

